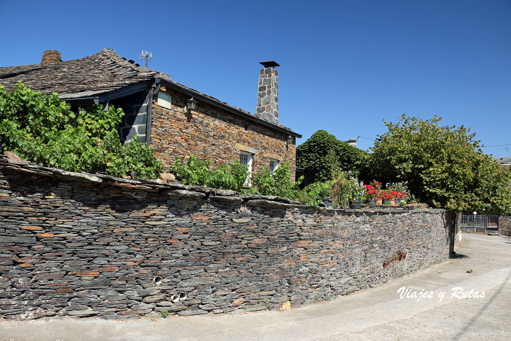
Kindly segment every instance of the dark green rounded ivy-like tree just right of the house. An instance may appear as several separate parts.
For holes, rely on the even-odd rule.
[[[340,168],[365,175],[367,153],[339,141],[326,130],[318,130],[296,147],[296,166],[305,168],[304,184],[332,179],[332,169]]]

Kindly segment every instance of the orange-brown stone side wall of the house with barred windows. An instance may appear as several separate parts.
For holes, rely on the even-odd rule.
[[[177,157],[190,154],[210,160],[216,168],[233,159],[239,161],[240,151],[244,150],[254,153],[252,174],[259,172],[261,166],[268,168],[270,159],[276,159],[290,162],[294,180],[296,142],[293,139],[287,145],[287,134],[237,118],[204,102],[188,113],[188,97],[171,90],[167,93],[172,96],[172,109],[153,102],[151,127],[151,145],[166,169]]]

